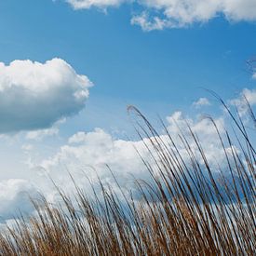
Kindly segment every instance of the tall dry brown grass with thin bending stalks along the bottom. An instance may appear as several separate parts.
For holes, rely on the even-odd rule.
[[[122,196],[117,195],[101,181],[101,195],[94,190],[93,200],[79,187],[75,199],[56,187],[60,205],[48,204],[43,196],[34,200],[37,214],[29,221],[20,218],[0,235],[0,254],[256,255],[256,161],[250,137],[255,134],[255,115],[248,106],[254,126],[248,132],[239,115],[222,103],[235,132],[222,136],[210,119],[225,156],[218,175],[189,125],[190,134],[181,130],[179,135],[188,161],[164,124],[165,139],[139,110],[130,107],[142,121],[136,127],[141,138],[148,138],[145,147],[152,158],[151,162],[141,159],[152,181],[135,180],[136,200],[134,193],[119,186]]]

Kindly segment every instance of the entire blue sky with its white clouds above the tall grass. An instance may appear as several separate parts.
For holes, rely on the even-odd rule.
[[[72,191],[66,169],[146,179],[128,105],[173,134],[183,116],[202,138],[200,114],[225,122],[208,89],[243,115],[242,94],[256,104],[255,46],[255,0],[0,1],[0,222],[33,210],[27,194],[54,201],[47,175]]]

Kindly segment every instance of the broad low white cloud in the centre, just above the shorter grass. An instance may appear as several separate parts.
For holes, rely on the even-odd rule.
[[[93,183],[98,182],[97,175],[103,183],[115,183],[106,165],[113,169],[123,187],[131,186],[128,182],[133,180],[131,174],[136,178],[149,179],[149,174],[134,149],[134,146],[138,147],[141,154],[147,157],[148,153],[145,151],[142,141],[115,140],[101,128],[95,128],[88,133],[74,134],[69,139],[69,143],[72,145],[62,146],[57,155],[53,155],[40,164],[43,172],[47,170],[54,181],[61,187],[64,185],[68,191],[74,190],[74,187],[66,169],[71,171],[76,177],[75,181],[84,187],[89,186],[82,170]]]

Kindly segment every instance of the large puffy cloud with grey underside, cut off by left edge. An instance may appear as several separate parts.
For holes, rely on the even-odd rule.
[[[50,128],[84,108],[91,86],[61,59],[0,62],[0,133]]]

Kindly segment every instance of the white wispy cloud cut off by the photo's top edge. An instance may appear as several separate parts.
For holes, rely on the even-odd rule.
[[[144,10],[135,14],[132,24],[144,31],[179,28],[193,23],[204,23],[217,16],[226,20],[256,20],[255,0],[66,0],[74,9],[90,7],[117,7],[123,3],[135,3]]]

